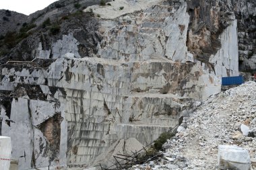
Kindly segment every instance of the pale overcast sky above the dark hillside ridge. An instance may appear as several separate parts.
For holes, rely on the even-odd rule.
[[[57,0],[0,0],[0,9],[9,9],[30,15],[55,1]]]

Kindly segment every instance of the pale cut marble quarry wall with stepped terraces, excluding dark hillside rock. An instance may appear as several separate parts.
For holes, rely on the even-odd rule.
[[[121,139],[145,146],[176,126],[195,100],[218,93],[220,77],[238,73],[236,21],[220,36],[214,73],[187,51],[186,9],[157,3],[139,15],[102,19],[96,57],[81,58],[68,34],[51,52],[38,44],[36,57],[56,59],[49,68],[3,68],[1,90],[33,85],[16,91],[10,110],[1,105],[3,122],[13,121],[2,134],[13,139],[19,169],[89,165]]]

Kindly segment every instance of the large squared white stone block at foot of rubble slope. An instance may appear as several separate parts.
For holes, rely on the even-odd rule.
[[[220,169],[249,170],[251,161],[246,149],[235,145],[219,145],[218,165]]]

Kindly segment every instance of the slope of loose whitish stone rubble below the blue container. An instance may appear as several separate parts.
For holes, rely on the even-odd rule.
[[[245,148],[251,160],[255,160],[256,138],[241,132],[241,124],[250,130],[256,128],[255,89],[256,83],[249,81],[212,95],[185,118],[182,124],[185,128],[180,128],[164,144],[161,159],[133,169],[218,169],[220,144]]]

